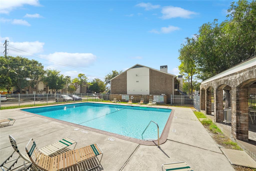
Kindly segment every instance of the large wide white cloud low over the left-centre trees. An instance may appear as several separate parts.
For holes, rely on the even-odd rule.
[[[91,53],[68,53],[68,52],[54,52],[49,55],[40,55],[47,59],[53,59],[55,61],[60,61],[61,63],[72,64],[75,67],[88,67],[95,62],[96,56]],[[55,63],[54,66],[63,67]]]

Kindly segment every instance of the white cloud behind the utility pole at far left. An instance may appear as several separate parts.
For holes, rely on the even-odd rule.
[[[11,41],[11,38],[9,37],[1,37],[1,44],[4,44],[4,41],[7,40],[9,41],[9,53],[13,56],[16,56],[16,55],[19,55],[19,56],[26,56],[26,52],[29,52],[31,54],[37,54],[37,53],[41,53],[44,51],[43,47],[44,47],[44,44],[43,42],[39,42],[39,41],[35,41],[35,42],[13,42]],[[23,52],[21,51],[22,53],[19,53],[19,52],[16,52],[16,51],[20,51],[20,50],[17,50],[17,49],[14,49],[14,48],[17,48],[17,49],[21,49],[21,50],[24,50],[26,52]],[[10,50],[10,49],[13,49],[13,50],[16,50],[16,51],[13,51],[13,50]],[[3,51],[3,47],[1,47],[1,51]],[[25,54],[23,54],[25,53]],[[28,54],[28,55],[31,55],[31,54]]]

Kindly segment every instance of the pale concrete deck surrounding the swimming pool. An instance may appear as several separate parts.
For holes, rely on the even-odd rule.
[[[75,126],[31,116],[17,109],[0,110],[0,119],[16,119],[13,126],[0,128],[0,163],[13,152],[8,138],[8,135],[12,135],[23,154],[30,138],[34,138],[39,148],[65,137],[77,140],[76,148],[98,143],[104,155],[101,166],[94,170],[160,171],[163,163],[179,161],[186,162],[194,170],[234,170],[190,108],[164,108],[174,109],[175,113],[167,140],[160,145],[161,148],[82,128],[75,131]],[[83,130],[89,133],[83,133]],[[108,138],[113,138],[114,141]]]

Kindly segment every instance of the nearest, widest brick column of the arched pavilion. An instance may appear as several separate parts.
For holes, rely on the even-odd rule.
[[[231,88],[231,106],[233,138],[248,141],[248,87]]]

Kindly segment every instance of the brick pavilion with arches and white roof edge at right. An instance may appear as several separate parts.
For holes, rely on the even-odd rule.
[[[248,141],[249,93],[256,93],[256,56],[223,71],[200,85],[200,110],[211,115],[212,92],[214,99],[214,121],[223,123],[223,90],[230,94],[231,137]]]

